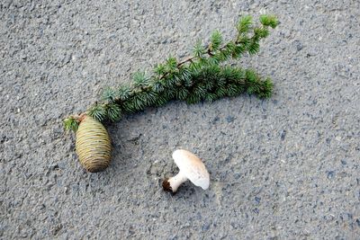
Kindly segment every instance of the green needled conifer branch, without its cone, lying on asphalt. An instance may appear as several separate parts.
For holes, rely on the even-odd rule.
[[[213,31],[209,44],[196,41],[193,56],[184,60],[167,58],[153,68],[152,75],[141,71],[134,73],[132,84],[121,85],[118,89],[106,88],[102,102],[95,102],[86,114],[99,121],[116,121],[126,113],[161,106],[172,100],[213,102],[240,93],[254,94],[261,99],[270,97],[271,79],[262,79],[252,69],[220,65],[230,58],[259,51],[260,40],[269,35],[269,28],[274,29],[278,21],[274,15],[261,15],[259,22],[260,25],[255,26],[251,16],[243,16],[236,25],[234,40],[224,43],[220,31]],[[80,121],[70,116],[64,120],[65,128],[76,131]]]

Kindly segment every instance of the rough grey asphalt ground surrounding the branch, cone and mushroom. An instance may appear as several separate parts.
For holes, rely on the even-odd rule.
[[[246,95],[172,102],[109,127],[103,173],[86,173],[61,121],[197,39],[275,13],[260,54],[275,82]],[[359,1],[0,3],[0,238],[359,239]],[[177,148],[200,156],[206,191],[161,180]]]

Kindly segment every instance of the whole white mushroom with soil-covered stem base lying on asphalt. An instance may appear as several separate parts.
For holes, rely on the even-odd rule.
[[[203,190],[209,188],[209,173],[199,157],[184,149],[177,149],[173,153],[173,158],[180,171],[175,176],[164,180],[164,191],[175,193],[186,180],[190,180],[195,186],[202,187]]]

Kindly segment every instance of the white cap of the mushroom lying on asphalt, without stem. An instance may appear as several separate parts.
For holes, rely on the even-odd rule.
[[[209,188],[210,176],[199,157],[184,149],[177,149],[173,153],[173,158],[180,173],[194,185],[202,187],[203,190]]]

